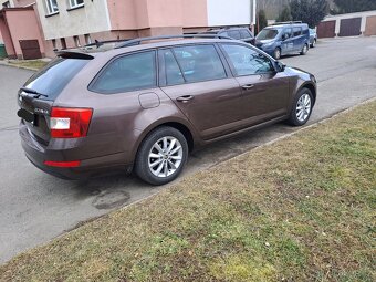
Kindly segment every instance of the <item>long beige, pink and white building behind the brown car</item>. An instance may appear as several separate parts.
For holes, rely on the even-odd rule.
[[[255,23],[253,11],[257,0],[0,0],[1,2],[9,2],[9,7],[19,9],[35,2],[32,7],[38,18],[36,28],[43,38],[41,53],[54,56],[55,49],[85,45],[94,40],[182,34],[213,27],[252,27]],[[8,9],[12,8],[3,10],[10,14]],[[1,32],[4,29],[1,28],[1,21],[4,22],[4,19],[1,20],[0,15]],[[19,21],[29,22],[23,17],[19,17]],[[13,39],[13,44],[18,45],[14,42],[19,40]],[[22,58],[22,52],[19,53],[21,49],[18,49],[15,56]]]

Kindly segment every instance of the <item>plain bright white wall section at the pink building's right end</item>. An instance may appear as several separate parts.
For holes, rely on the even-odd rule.
[[[208,0],[208,25],[251,23],[252,0]]]

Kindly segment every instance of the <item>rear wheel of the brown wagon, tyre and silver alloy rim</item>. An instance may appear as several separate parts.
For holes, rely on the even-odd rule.
[[[135,173],[150,185],[168,184],[182,171],[187,158],[185,136],[178,129],[161,126],[149,133],[139,146]]]

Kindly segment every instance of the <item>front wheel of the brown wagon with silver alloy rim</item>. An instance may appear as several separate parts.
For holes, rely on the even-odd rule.
[[[302,88],[295,96],[288,123],[302,126],[310,119],[313,108],[313,95],[309,88]]]

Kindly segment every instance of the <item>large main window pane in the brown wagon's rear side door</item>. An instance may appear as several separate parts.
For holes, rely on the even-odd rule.
[[[173,50],[186,82],[227,77],[222,61],[213,45],[188,45]]]

